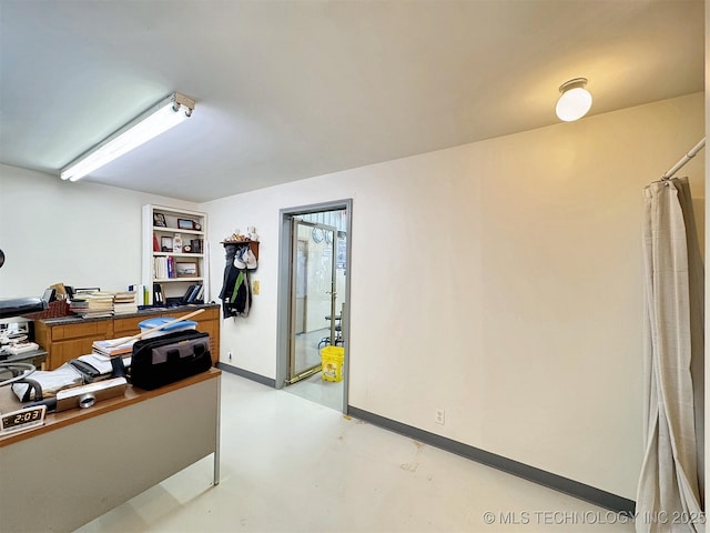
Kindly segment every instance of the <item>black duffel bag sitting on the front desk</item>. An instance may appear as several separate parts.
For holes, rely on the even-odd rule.
[[[176,331],[133,344],[131,383],[152,390],[205,372],[212,366],[210,335]]]

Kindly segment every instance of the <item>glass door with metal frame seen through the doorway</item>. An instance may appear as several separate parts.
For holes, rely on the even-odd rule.
[[[288,383],[321,370],[323,345],[335,344],[336,320],[334,243],[331,225],[292,219],[291,326]]]

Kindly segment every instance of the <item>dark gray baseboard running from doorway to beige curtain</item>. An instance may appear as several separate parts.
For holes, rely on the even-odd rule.
[[[557,475],[525,463],[519,463],[518,461],[496,455],[495,453],[486,452],[485,450],[469,446],[468,444],[464,444],[435,433],[429,433],[428,431],[419,430],[418,428],[403,424],[352,405],[347,406],[347,414],[365,422],[369,422],[373,425],[394,431],[395,433],[399,433],[425,444],[446,450],[447,452],[470,459],[487,466],[493,466],[494,469],[517,475],[518,477],[569,494],[570,496],[578,497],[579,500],[584,500],[617,513],[630,515],[636,509],[636,502],[633,500],[618,496],[617,494],[602,491],[601,489],[596,489],[594,486],[579,483],[578,481],[562,477],[561,475]]]

